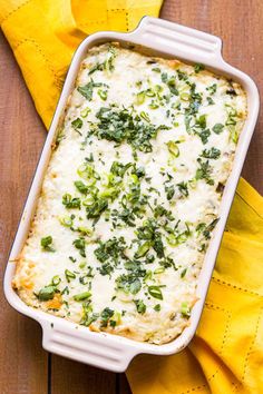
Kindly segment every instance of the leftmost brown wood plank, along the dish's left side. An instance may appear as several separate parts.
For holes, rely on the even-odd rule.
[[[8,43],[0,37],[0,278],[41,149],[45,130]],[[0,393],[47,394],[40,326],[16,313],[0,286]]]

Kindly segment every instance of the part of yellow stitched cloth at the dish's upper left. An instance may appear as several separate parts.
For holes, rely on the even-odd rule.
[[[0,24],[47,128],[72,55],[87,35],[129,31],[162,0],[0,0]]]

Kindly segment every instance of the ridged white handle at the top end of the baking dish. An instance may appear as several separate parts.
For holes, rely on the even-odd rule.
[[[144,17],[136,30],[129,33],[133,41],[145,47],[149,46],[160,52],[185,57],[189,53],[198,61],[210,63],[210,60],[224,63],[222,58],[222,41],[218,37],[187,28],[169,21]]]

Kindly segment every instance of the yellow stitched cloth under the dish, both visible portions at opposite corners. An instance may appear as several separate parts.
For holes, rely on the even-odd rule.
[[[78,43],[97,30],[134,29],[159,0],[1,0],[0,23],[36,107],[50,124]],[[205,309],[188,348],[138,356],[134,394],[263,393],[263,199],[241,179]]]

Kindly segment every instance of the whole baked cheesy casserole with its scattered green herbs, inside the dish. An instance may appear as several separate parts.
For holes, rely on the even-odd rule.
[[[245,117],[242,88],[201,65],[89,50],[19,258],[19,296],[92,331],[179,335]]]

